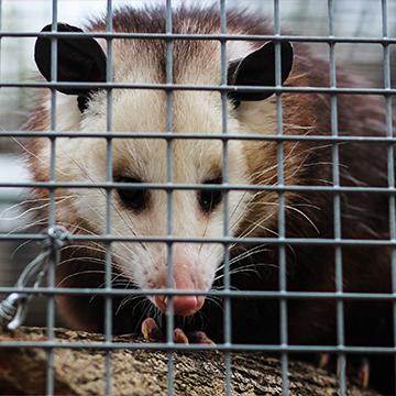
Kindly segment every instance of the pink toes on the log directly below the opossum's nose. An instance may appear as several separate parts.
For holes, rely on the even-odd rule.
[[[147,318],[142,322],[142,334],[147,341],[163,340],[164,336],[158,324],[153,318]],[[185,333],[180,328],[176,328],[174,331],[174,341],[176,343],[199,343],[199,344],[215,344],[215,342],[204,332],[194,331],[191,333]]]

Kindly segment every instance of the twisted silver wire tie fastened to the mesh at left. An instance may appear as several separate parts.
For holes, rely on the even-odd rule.
[[[51,265],[50,257],[65,245],[68,237],[68,231],[64,227],[51,227],[47,230],[47,238],[43,242],[43,252],[25,266],[18,278],[15,288],[23,289],[29,285],[38,288]],[[26,317],[28,306],[32,298],[32,294],[16,292],[2,300],[0,302],[0,328],[9,331],[18,329]]]

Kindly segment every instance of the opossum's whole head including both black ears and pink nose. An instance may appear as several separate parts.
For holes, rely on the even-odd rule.
[[[59,31],[78,32],[68,25]],[[114,73],[118,82],[164,82],[164,47],[144,42],[114,42]],[[229,82],[241,86],[274,86],[274,44],[267,43],[250,50],[246,56],[230,59]],[[282,80],[290,72],[293,51],[282,44]],[[157,51],[157,53],[155,53]],[[161,51],[163,52],[162,54]],[[61,38],[57,45],[57,79],[62,82],[103,82],[107,79],[107,57],[94,38]],[[139,56],[136,56],[139,54]],[[221,82],[220,46],[215,42],[200,42],[196,47],[176,42],[174,47],[174,82],[219,85]],[[43,76],[51,80],[51,42],[38,38],[35,59]],[[80,131],[107,130],[107,95],[105,90],[58,88],[57,117],[61,129]],[[228,130],[241,133],[243,128],[238,107],[244,101],[264,100],[273,92],[242,91],[229,95]],[[177,139],[186,132],[208,138],[223,131],[221,94],[216,90],[175,90],[172,96],[172,129],[174,141],[167,144],[167,96],[162,90],[114,89],[112,91],[111,129],[117,132],[160,134],[155,139],[114,139],[112,141],[112,178],[125,185],[113,190],[111,230],[116,235],[158,235],[170,232],[176,238],[220,239],[227,233],[235,235],[248,211],[250,194],[231,190],[224,195],[220,186],[223,175],[228,183],[250,183],[244,146],[241,141],[228,142],[224,162],[221,140]],[[164,139],[161,138],[164,135]],[[103,182],[107,168],[107,145],[100,139],[59,139],[57,150],[57,179]],[[42,158],[48,158],[48,146],[43,146]],[[168,158],[170,157],[170,162]],[[227,168],[224,164],[227,163]],[[142,184],[164,184],[172,175],[175,184],[213,185],[204,190],[175,189],[170,196],[162,189],[141,188]],[[102,190],[75,189],[62,200],[58,220],[84,223],[95,233],[106,230],[106,194]],[[224,204],[228,210],[224,211]],[[167,216],[170,210],[170,218]],[[172,226],[168,221],[172,220]],[[224,254],[221,243],[177,242],[173,244],[173,284],[176,289],[208,290],[219,274]],[[114,243],[113,260],[124,276],[140,288],[166,288],[168,249],[165,243]],[[151,298],[164,311],[167,299]],[[175,312],[189,316],[204,305],[204,297],[176,296]]]

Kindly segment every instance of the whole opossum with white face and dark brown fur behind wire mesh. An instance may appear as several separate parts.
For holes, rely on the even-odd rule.
[[[114,32],[164,33],[162,7],[121,8],[112,16]],[[50,30],[47,26],[45,30]],[[61,32],[80,32],[64,23]],[[91,21],[84,30],[105,32],[106,19]],[[216,8],[179,7],[173,12],[176,34],[219,34],[220,16]],[[229,35],[272,35],[272,24],[249,12],[227,13]],[[320,59],[304,44],[279,42],[284,87],[329,87],[329,62]],[[172,177],[175,184],[210,185],[212,189],[173,191],[172,235],[191,238],[223,237],[224,194],[216,185],[267,186],[267,189],[234,189],[227,194],[228,235],[238,243],[227,246],[230,255],[231,287],[239,290],[279,290],[279,261],[286,263],[286,289],[289,292],[336,292],[336,262],[342,261],[342,290],[345,293],[389,293],[392,290],[391,248],[382,244],[353,244],[352,240],[389,240],[389,199],[383,194],[351,191],[344,187],[387,187],[387,146],[378,141],[341,142],[285,141],[282,145],[283,180],[279,180],[278,144],[273,140],[243,140],[244,135],[277,133],[275,90],[258,89],[276,85],[273,41],[227,42],[228,85],[257,89],[230,89],[227,102],[228,133],[241,140],[228,142],[229,165],[223,179],[223,144],[220,139],[177,139],[178,133],[213,135],[223,132],[221,91],[216,89],[175,89],[173,91]],[[106,89],[76,88],[68,81],[106,82],[107,75],[118,84],[143,84],[146,89],[112,89],[111,130],[164,134],[167,138],[166,43],[164,40],[113,38],[113,70],[107,70],[105,38],[58,38],[57,131],[107,131]],[[175,40],[172,79],[175,85],[220,86],[221,43],[219,40]],[[51,80],[51,41],[38,37],[35,61],[45,79]],[[361,84],[353,76],[337,75],[338,86]],[[280,99],[278,99],[280,100]],[[337,117],[331,123],[330,92],[284,92],[282,129],[286,136],[386,136],[385,99],[369,95],[337,95]],[[43,90],[28,128],[51,129],[50,90]],[[337,123],[337,124],[334,124]],[[51,143],[33,139],[29,145],[29,166],[36,182],[50,179]],[[339,179],[333,174],[338,157]],[[112,179],[124,183],[112,191],[111,233],[114,235],[164,237],[167,234],[167,194],[161,189],[139,189],[141,183],[167,182],[165,139],[113,139]],[[100,138],[58,138],[56,140],[57,182],[106,182],[107,141]],[[282,184],[279,183],[282,182]],[[134,188],[128,188],[128,185]],[[121,185],[120,185],[121,186]],[[279,194],[276,188],[285,187]],[[288,188],[297,186],[299,188]],[[317,190],[310,188],[318,186]],[[306,187],[306,190],[304,189]],[[334,190],[330,189],[334,187]],[[34,189],[37,199],[48,199],[46,189]],[[56,222],[75,234],[106,233],[103,189],[57,188]],[[299,239],[284,251],[277,243],[243,243],[245,238],[277,239],[280,229],[279,195],[284,202],[283,238]],[[337,198],[333,198],[337,197]],[[340,219],[336,206],[340,205]],[[41,211],[38,223],[47,221]],[[334,238],[351,243],[331,243]],[[305,240],[304,240],[305,239]],[[309,242],[312,240],[312,243]],[[301,241],[302,240],[302,241]],[[322,241],[322,242],[321,242]],[[162,289],[167,286],[166,243],[121,243],[111,246],[113,286]],[[285,253],[285,257],[279,256]],[[283,253],[284,252],[284,253]],[[208,292],[221,288],[224,246],[221,243],[178,242],[173,244],[173,284],[177,290]],[[74,242],[62,251],[56,268],[58,285],[67,287],[103,286],[105,245]],[[146,304],[146,301],[150,302]],[[205,296],[147,296],[141,299],[113,298],[113,332],[135,331],[150,316],[165,312],[173,301],[183,330],[204,330],[215,342],[223,341],[223,311]],[[95,296],[58,296],[57,302],[69,326],[102,331],[103,299]],[[213,304],[215,302],[215,304]],[[152,315],[150,315],[152,314]],[[232,298],[232,342],[279,344],[279,299]],[[287,343],[292,345],[393,345],[392,305],[386,300],[345,299],[344,340],[338,339],[337,300],[329,298],[287,299]],[[359,361],[359,359],[358,359]],[[393,359],[370,356],[372,384],[392,392]],[[348,355],[348,362],[354,358]],[[353,364],[352,364],[353,366]]]

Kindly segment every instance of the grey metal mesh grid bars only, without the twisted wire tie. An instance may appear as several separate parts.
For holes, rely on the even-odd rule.
[[[245,35],[234,36],[227,34],[227,14],[226,14],[226,0],[220,0],[220,24],[221,33],[218,35],[211,34],[174,34],[172,26],[172,0],[166,1],[166,33],[165,34],[141,34],[141,33],[114,33],[112,31],[112,0],[107,0],[107,32],[105,33],[74,33],[73,36],[92,36],[102,37],[107,40],[107,82],[103,84],[69,84],[67,86],[75,87],[95,87],[105,88],[107,90],[107,131],[103,132],[57,132],[56,125],[56,89],[63,87],[65,84],[56,81],[57,75],[57,38],[72,36],[68,33],[57,33],[57,0],[52,0],[53,7],[53,26],[52,32],[48,33],[8,33],[1,32],[1,0],[0,0],[0,41],[3,37],[29,37],[29,36],[48,36],[52,38],[52,81],[51,82],[0,82],[0,87],[29,87],[29,88],[51,88],[52,100],[51,100],[51,131],[1,131],[0,136],[42,136],[51,140],[51,166],[50,166],[50,182],[48,183],[0,183],[2,187],[37,187],[46,188],[50,190],[50,215],[48,224],[55,224],[55,191],[57,188],[102,188],[106,190],[106,232],[105,235],[70,235],[72,241],[100,241],[106,244],[106,288],[87,288],[87,289],[72,289],[72,288],[55,288],[54,287],[54,268],[59,262],[59,254],[54,249],[54,254],[51,258],[52,265],[48,272],[48,286],[43,288],[23,288],[21,292],[28,292],[32,295],[43,294],[47,298],[47,338],[48,341],[38,342],[4,342],[1,348],[44,348],[47,351],[47,378],[46,378],[46,392],[48,395],[54,393],[54,377],[53,377],[53,349],[54,348],[73,348],[73,349],[101,349],[106,350],[106,394],[111,395],[111,352],[114,349],[141,349],[140,343],[113,343],[112,342],[112,298],[114,296],[123,295],[165,295],[168,296],[168,301],[172,302],[172,297],[177,295],[210,295],[219,296],[224,300],[224,342],[211,345],[180,345],[175,344],[174,337],[174,311],[173,305],[167,306],[167,326],[166,326],[166,342],[164,343],[151,343],[144,348],[147,350],[163,350],[168,352],[168,373],[167,373],[167,394],[174,395],[174,351],[184,350],[220,350],[224,352],[226,362],[226,395],[232,394],[231,377],[232,377],[232,361],[231,352],[233,351],[265,351],[276,352],[282,356],[282,389],[283,394],[289,393],[288,384],[288,354],[299,352],[326,352],[334,353],[338,355],[339,369],[340,369],[340,384],[339,393],[341,395],[346,394],[346,353],[365,354],[365,353],[384,353],[393,354],[396,356],[396,348],[366,348],[366,346],[346,346],[344,342],[344,316],[343,316],[343,304],[345,300],[389,300],[394,305],[394,338],[396,342],[396,212],[395,212],[395,175],[394,175],[394,146],[396,138],[393,135],[393,114],[392,114],[392,98],[396,95],[396,89],[391,86],[391,56],[389,45],[396,44],[396,38],[389,38],[387,36],[387,1],[382,1],[382,18],[383,18],[383,36],[378,38],[354,38],[354,37],[334,37],[334,0],[328,0],[328,12],[329,12],[329,36],[287,36],[282,35],[280,32],[280,7],[279,0],[274,0],[274,35]],[[153,40],[162,38],[166,42],[166,84],[117,84],[112,81],[112,42],[114,38],[141,38],[141,40]],[[245,40],[245,41],[263,41],[273,40],[275,42],[276,50],[276,87],[234,87],[227,85],[227,42],[233,40]],[[173,81],[173,44],[175,40],[218,40],[221,46],[221,86],[211,85],[176,85]],[[329,87],[282,87],[280,78],[280,43],[284,41],[290,42],[318,42],[327,43],[330,48],[330,86]],[[334,48],[338,43],[376,43],[381,44],[384,50],[384,88],[338,88],[336,80],[336,56]],[[112,89],[160,89],[166,92],[166,131],[167,134],[164,136],[163,133],[118,133],[112,132]],[[243,89],[245,91],[265,91],[271,90],[276,94],[276,134],[257,136],[254,134],[248,135],[233,135],[228,131],[228,99],[227,94],[230,90]],[[202,91],[218,91],[221,94],[221,110],[222,110],[222,133],[218,135],[206,135],[204,132],[200,134],[188,134],[178,133],[177,136],[173,133],[173,97],[175,90],[202,90]],[[282,107],[282,95],[284,92],[299,92],[299,94],[330,94],[331,96],[331,135],[329,136],[286,136],[283,134],[283,107]],[[387,135],[386,138],[377,136],[340,136],[338,128],[338,109],[337,109],[337,97],[340,94],[348,95],[380,95],[385,96],[386,99],[386,124]],[[106,167],[106,183],[102,184],[88,184],[88,183],[57,183],[56,182],[56,139],[57,138],[103,138],[107,144],[107,167]],[[139,186],[114,183],[112,179],[112,140],[113,139],[162,139],[166,142],[166,170],[167,179],[165,184],[140,184]],[[173,142],[175,140],[220,140],[222,142],[223,152],[223,174],[222,185],[197,185],[197,184],[175,184],[173,180]],[[229,183],[229,141],[231,140],[255,140],[255,141],[273,141],[277,144],[277,185],[264,185],[264,186],[246,186],[246,185],[232,185]],[[284,143],[288,141],[315,141],[315,142],[329,142],[332,145],[332,175],[333,186],[288,186],[284,184]],[[339,161],[339,146],[341,142],[360,142],[360,143],[384,143],[387,145],[388,155],[388,187],[343,187],[340,186],[340,161]],[[111,199],[112,190],[114,188],[146,188],[146,189],[161,189],[166,193],[167,196],[167,232],[166,237],[130,237],[130,235],[113,235],[111,228]],[[210,189],[223,191],[223,237],[222,238],[180,238],[173,235],[173,193],[175,190],[197,190],[197,189]],[[238,238],[229,235],[229,191],[231,190],[251,190],[251,191],[276,191],[278,194],[278,238],[246,238],[241,241]],[[333,239],[296,239],[286,237],[285,227],[285,193],[287,191],[326,191],[333,196],[333,211],[334,211],[334,238]],[[355,194],[355,193],[370,193],[370,194],[386,194],[389,199],[389,240],[348,240],[342,239],[341,234],[341,194]],[[44,234],[38,233],[19,233],[19,234],[0,234],[0,240],[42,240]],[[167,245],[167,289],[150,289],[150,290],[122,290],[112,288],[111,279],[111,244],[112,242],[163,242]],[[194,242],[194,243],[222,243],[224,246],[224,289],[217,292],[200,293],[196,290],[177,290],[173,289],[173,245],[179,242]],[[230,286],[230,256],[229,245],[232,243],[271,243],[278,246],[279,252],[279,290],[278,292],[234,292],[231,290]],[[288,292],[286,283],[286,245],[287,244],[318,244],[318,245],[330,245],[334,246],[336,253],[336,292],[334,293],[299,293]],[[393,265],[393,292],[388,294],[366,294],[366,293],[345,293],[343,292],[342,282],[342,248],[348,245],[381,245],[392,248],[392,265]],[[0,287],[0,293],[18,292],[15,288]],[[66,294],[66,295],[90,295],[98,294],[105,297],[106,310],[105,310],[105,333],[106,341],[98,343],[86,343],[79,342],[65,342],[58,344],[54,341],[54,296]],[[279,345],[266,345],[266,344],[235,344],[232,342],[232,329],[231,329],[231,306],[232,298],[241,297],[260,297],[260,298],[277,298],[279,300],[279,324],[280,324],[280,344]],[[288,299],[318,299],[318,298],[332,298],[337,305],[337,339],[338,343],[334,346],[324,345],[290,345],[288,344],[287,334],[287,300]]]

